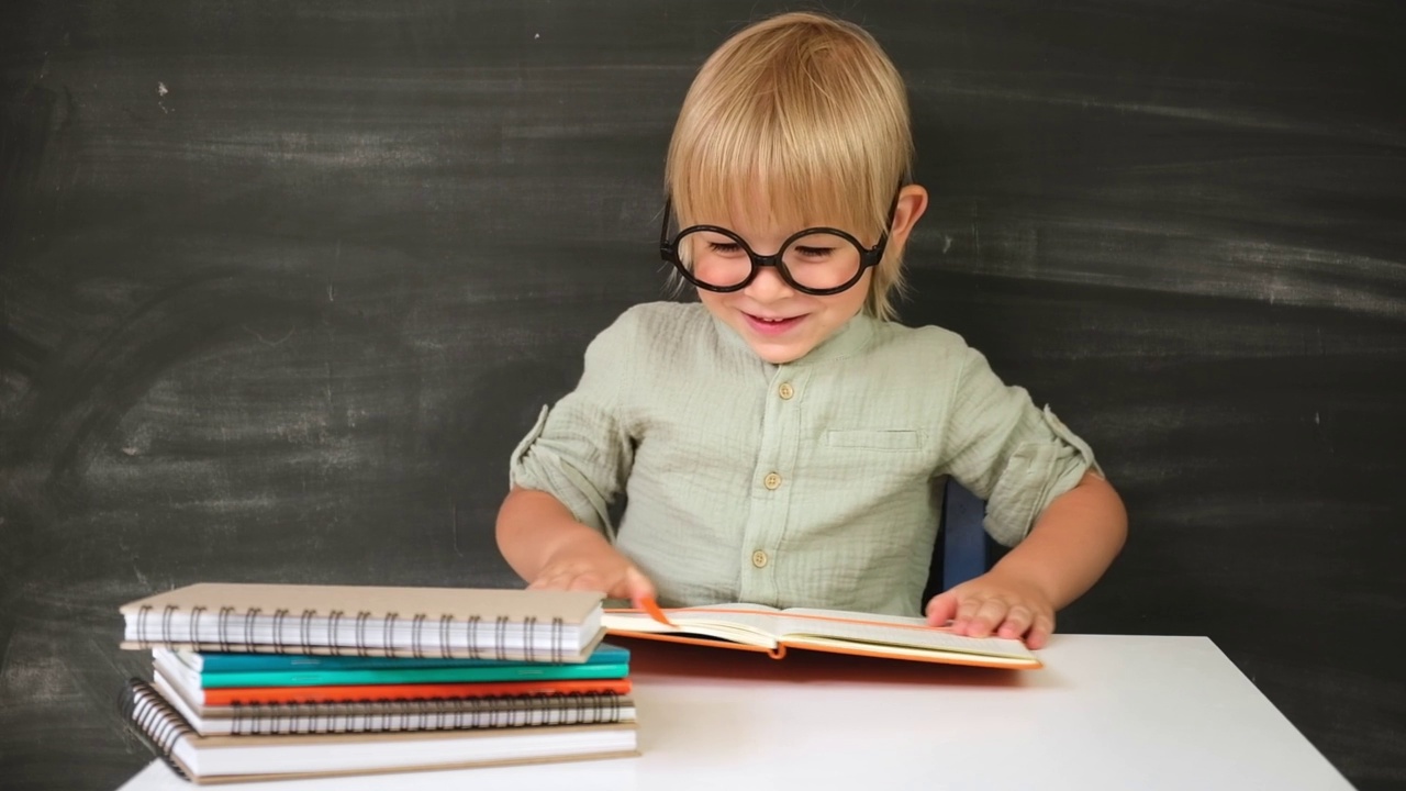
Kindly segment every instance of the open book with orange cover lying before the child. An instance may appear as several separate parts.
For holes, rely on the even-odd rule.
[[[922,618],[897,615],[717,604],[655,614],[607,609],[602,622],[612,635],[766,652],[773,659],[783,657],[786,649],[806,649],[977,667],[1042,667],[1021,640],[966,638],[928,626]]]

